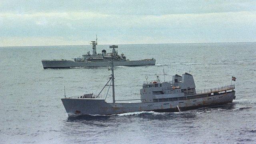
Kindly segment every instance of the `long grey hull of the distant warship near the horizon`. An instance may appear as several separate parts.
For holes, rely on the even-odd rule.
[[[110,66],[110,61],[104,62],[75,62],[72,60],[42,60],[44,69],[47,68],[74,68],[74,67],[104,67]],[[114,61],[114,66],[145,66],[155,65],[156,60]]]

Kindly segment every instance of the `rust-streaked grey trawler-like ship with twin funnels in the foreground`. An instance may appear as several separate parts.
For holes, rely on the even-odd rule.
[[[112,61],[112,75],[104,86],[112,86],[112,102],[106,102],[106,96],[84,94],[82,96],[62,98],[62,103],[68,116],[79,115],[111,115],[127,112],[155,111],[179,112],[206,106],[215,106],[232,102],[235,96],[235,85],[228,85],[207,90],[196,90],[194,78],[185,73],[182,76],[172,76],[170,82],[155,81],[144,82],[140,89],[140,102],[125,102],[115,100],[114,92],[114,64]],[[147,80],[147,77],[146,77]],[[110,84],[108,84],[110,83]],[[111,84],[112,83],[112,84]],[[122,101],[122,102],[119,102]],[[132,100],[127,100],[132,101]]]

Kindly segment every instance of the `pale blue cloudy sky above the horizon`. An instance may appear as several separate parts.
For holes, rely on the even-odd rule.
[[[0,46],[256,42],[256,0],[0,0]]]

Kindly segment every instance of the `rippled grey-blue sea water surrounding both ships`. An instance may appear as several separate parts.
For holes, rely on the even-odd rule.
[[[110,51],[107,45],[99,45]],[[235,76],[233,103],[157,113],[68,117],[61,98],[97,94],[108,68],[47,69],[42,59],[71,59],[91,46],[0,48],[0,143],[256,143],[256,43],[119,45],[130,60],[155,66],[115,68],[116,100],[139,98],[142,84],[190,72],[197,90],[224,86]],[[103,91],[106,94],[106,91]],[[108,96],[107,101],[111,102]]]

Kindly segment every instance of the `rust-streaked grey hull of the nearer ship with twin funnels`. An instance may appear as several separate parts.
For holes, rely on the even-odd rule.
[[[96,98],[63,98],[61,100],[68,116],[78,116],[111,115],[141,111],[177,112],[178,108],[180,110],[190,110],[226,104],[232,102],[234,98],[235,91],[203,98],[166,102],[107,103],[104,99]]]

